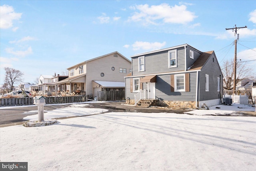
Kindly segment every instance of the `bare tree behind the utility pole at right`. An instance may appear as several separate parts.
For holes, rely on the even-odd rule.
[[[234,87],[234,61],[226,60],[222,65],[223,88],[226,90]],[[246,63],[237,62],[236,64],[236,84],[247,78],[252,78],[252,69],[246,66]]]

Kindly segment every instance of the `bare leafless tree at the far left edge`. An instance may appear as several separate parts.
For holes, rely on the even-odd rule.
[[[5,67],[5,79],[4,85],[7,89],[13,90],[14,84],[22,81],[22,76],[24,75],[20,70],[15,70],[14,68]]]

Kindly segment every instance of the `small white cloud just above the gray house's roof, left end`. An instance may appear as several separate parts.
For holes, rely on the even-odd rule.
[[[165,46],[166,42],[160,43],[160,42],[138,42],[136,41],[134,44],[132,44],[133,50],[159,50],[163,46]]]

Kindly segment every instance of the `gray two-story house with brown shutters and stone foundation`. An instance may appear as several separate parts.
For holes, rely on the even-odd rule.
[[[218,105],[222,72],[214,51],[188,44],[131,56],[132,73],[125,77],[126,103],[156,99],[156,105],[197,108]]]

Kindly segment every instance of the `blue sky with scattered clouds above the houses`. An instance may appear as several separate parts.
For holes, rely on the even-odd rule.
[[[126,58],[189,44],[214,50],[220,65],[237,58],[256,75],[256,1],[1,0],[0,84],[4,67],[34,83],[80,62],[118,51]],[[254,61],[251,61],[254,60]]]

